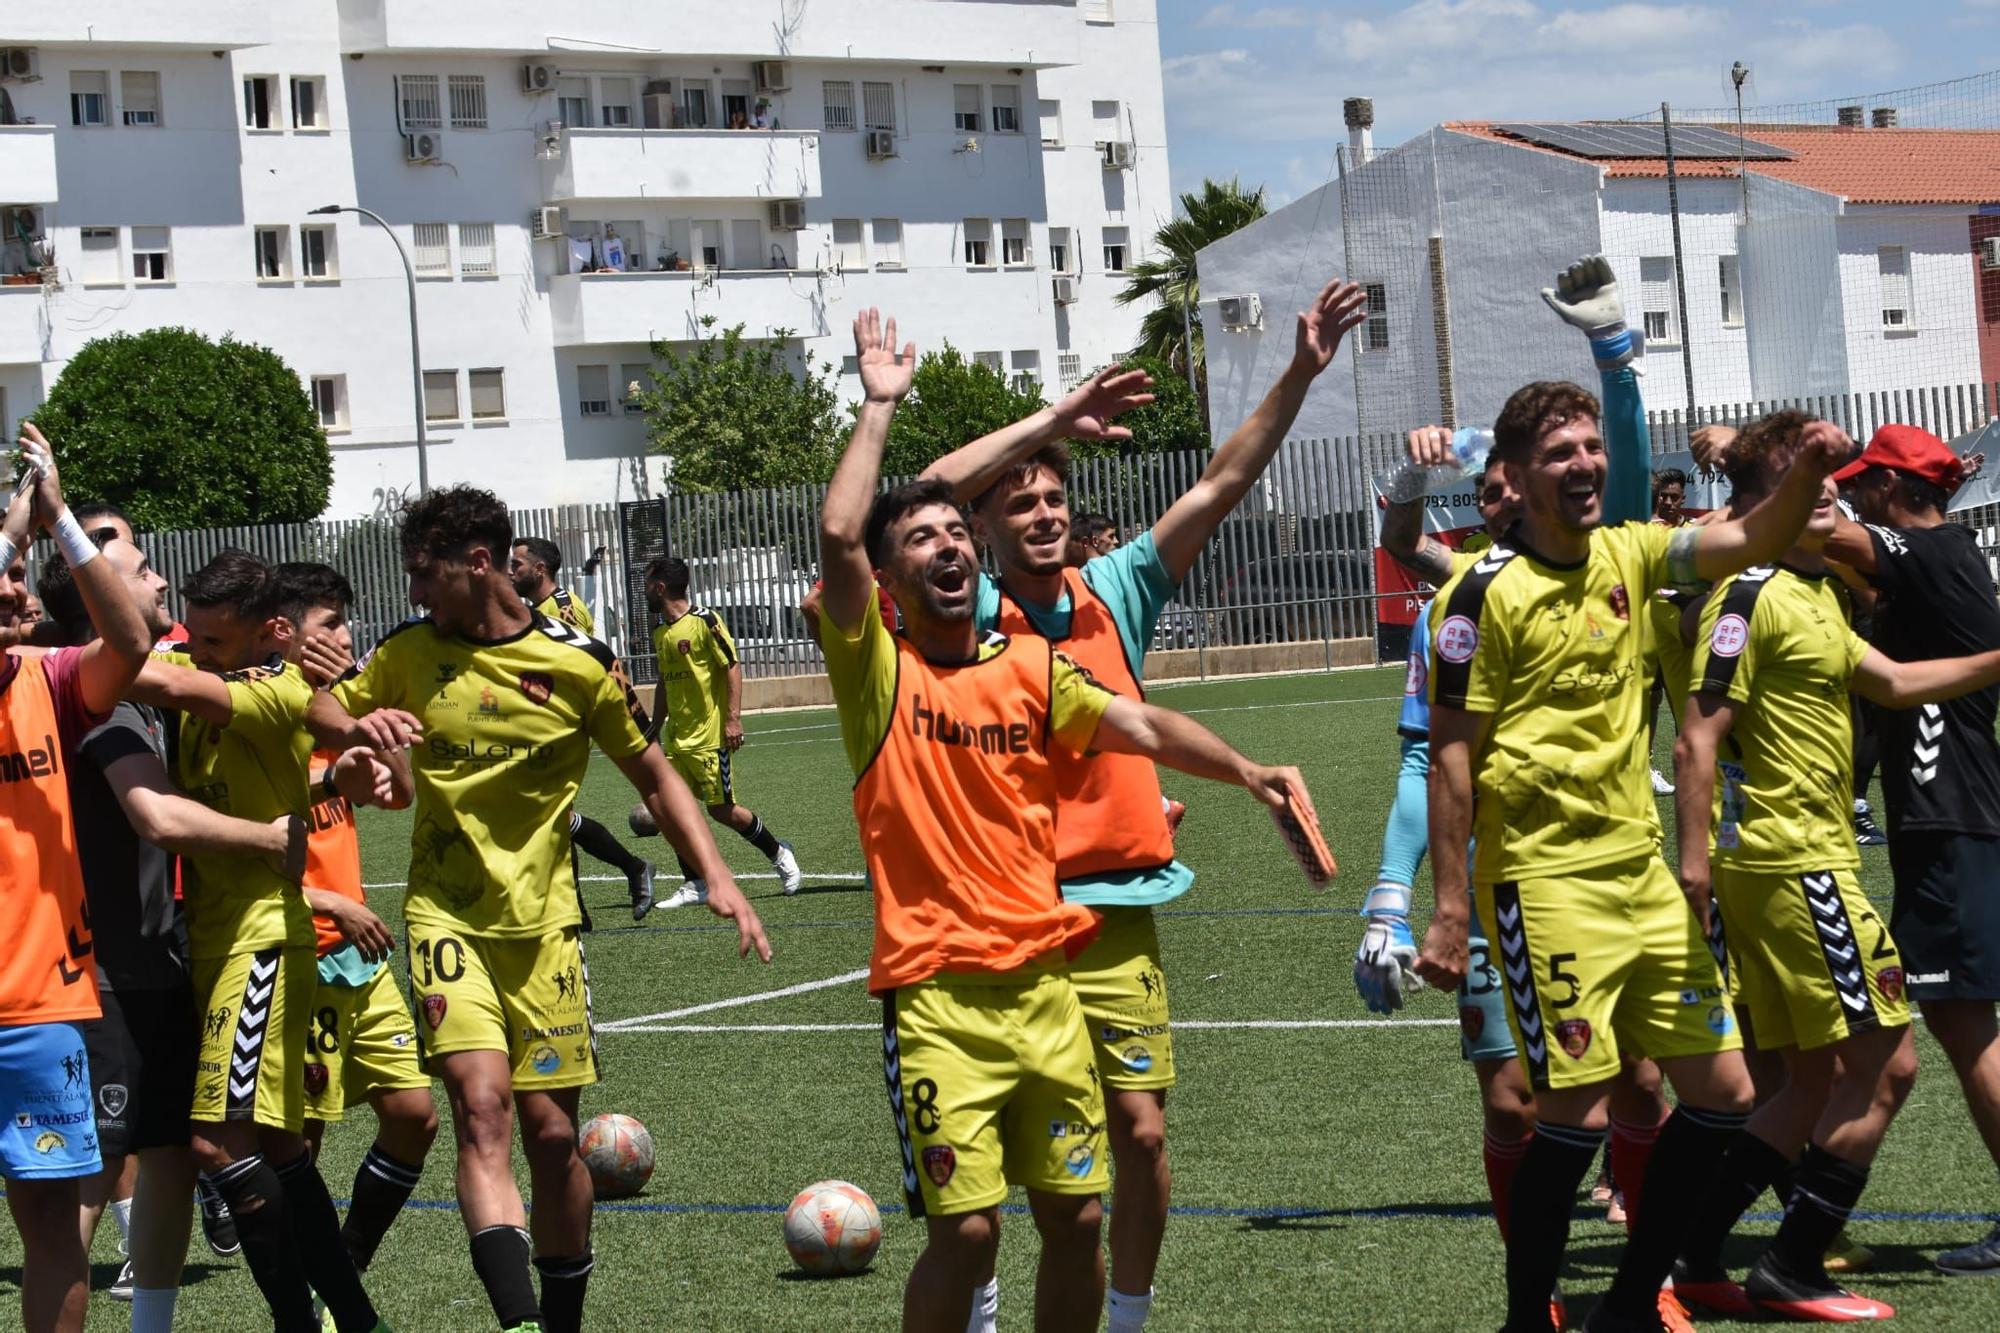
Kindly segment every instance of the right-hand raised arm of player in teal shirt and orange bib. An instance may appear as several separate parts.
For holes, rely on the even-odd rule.
[[[1284,432],[1298,420],[1298,408],[1304,406],[1312,380],[1334,362],[1346,332],[1366,318],[1366,288],[1340,278],[1322,286],[1312,306],[1300,310],[1292,334],[1292,364],[1248,420],[1222,440],[1202,476],[1152,524],[1152,542],[1174,582],[1188,576],[1208,538],[1270,466]]]

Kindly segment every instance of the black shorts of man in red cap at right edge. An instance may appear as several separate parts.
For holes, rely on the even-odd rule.
[[[2000,839],[1910,831],[1888,841],[1890,933],[1914,1001],[2000,1001]]]

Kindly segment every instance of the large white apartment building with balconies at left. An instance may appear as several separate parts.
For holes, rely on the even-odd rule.
[[[8,6],[0,92],[0,430],[90,338],[234,334],[328,516],[414,486],[416,390],[396,248],[318,206],[410,256],[432,484],[520,504],[658,486],[626,386],[710,320],[858,396],[874,304],[1054,396],[1172,212],[1152,0]]]

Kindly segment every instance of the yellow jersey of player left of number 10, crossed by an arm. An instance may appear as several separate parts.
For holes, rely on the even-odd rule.
[[[184,652],[160,656],[194,671]],[[312,687],[288,662],[232,671],[222,679],[230,687],[230,725],[212,727],[182,713],[174,781],[194,801],[236,819],[262,825],[280,815],[304,817],[312,809],[312,737],[306,735]],[[304,895],[262,859],[194,853],[180,865],[190,957],[312,945],[312,909]]]

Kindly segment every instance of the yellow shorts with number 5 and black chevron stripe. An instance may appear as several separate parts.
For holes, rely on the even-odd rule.
[[[1604,1083],[1620,1047],[1652,1059],[1742,1047],[1716,955],[1660,857],[1476,893],[1534,1087]]]

